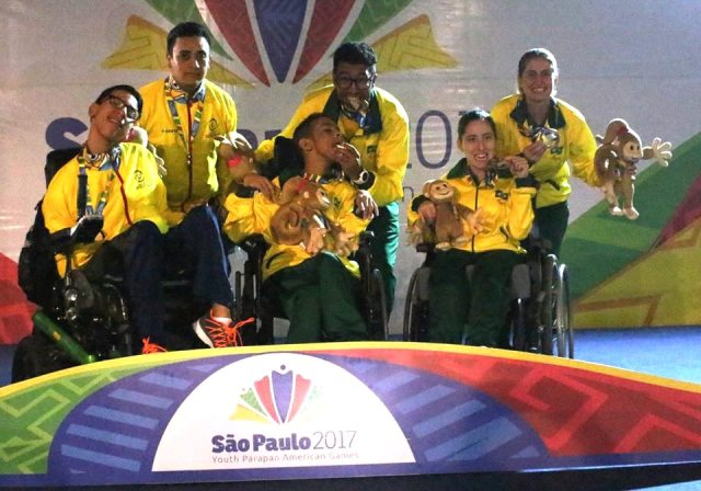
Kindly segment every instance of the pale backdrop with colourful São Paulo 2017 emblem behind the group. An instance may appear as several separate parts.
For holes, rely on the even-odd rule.
[[[82,141],[102,88],[161,77],[165,34],[184,20],[210,28],[210,78],[234,96],[253,142],[281,128],[301,95],[327,79],[335,46],[371,44],[378,84],[411,118],[407,198],[457,160],[460,111],[491,107],[514,90],[521,53],[550,48],[559,95],[595,133],[624,117],[644,142],[660,136],[676,146],[668,169],[641,172],[637,221],[609,217],[597,190],[575,185],[563,260],[576,326],[699,324],[700,18],[694,0],[4,0],[0,342],[15,341],[32,311],[16,287],[16,259],[44,191],[44,156]],[[421,260],[409,247],[400,252],[394,332]]]

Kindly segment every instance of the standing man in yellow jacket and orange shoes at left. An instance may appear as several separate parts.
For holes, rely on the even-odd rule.
[[[170,75],[140,89],[141,126],[165,162],[169,222],[166,252],[197,254],[195,294],[212,302],[209,316],[195,322],[198,338],[211,347],[232,344],[229,264],[216,213],[209,206],[228,187],[228,169],[217,168],[218,138],[237,128],[231,96],[206,79],[210,39],[195,22],[177,24],[168,34]],[[222,201],[221,201],[222,202]]]

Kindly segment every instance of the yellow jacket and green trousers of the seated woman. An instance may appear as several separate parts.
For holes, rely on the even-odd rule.
[[[506,347],[505,320],[513,267],[525,252],[520,241],[533,220],[535,180],[480,180],[462,159],[444,178],[456,189],[457,202],[482,209],[483,230],[464,246],[436,251],[430,264],[429,339],[435,342]],[[409,225],[418,220],[417,196],[407,210]],[[471,278],[468,265],[474,266]]]

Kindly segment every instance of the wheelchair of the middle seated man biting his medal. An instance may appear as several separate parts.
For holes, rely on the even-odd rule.
[[[360,235],[359,249],[354,255],[360,267],[360,294],[358,302],[368,324],[369,339],[387,341],[389,322],[382,274],[370,266],[371,232]],[[238,319],[254,318],[256,329],[243,332],[243,344],[274,344],[275,319],[285,319],[281,307],[269,292],[263,288],[263,258],[267,243],[261,235],[253,235],[238,244],[248,255],[243,271],[234,275],[235,313]]]

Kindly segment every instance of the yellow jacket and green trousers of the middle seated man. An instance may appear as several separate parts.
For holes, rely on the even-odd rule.
[[[357,190],[345,181],[319,181],[331,206],[327,220],[359,236],[368,220],[354,213]],[[225,231],[239,242],[261,233],[269,244],[263,260],[264,287],[274,290],[290,320],[288,342],[367,339],[367,326],[357,307],[358,265],[346,256],[322,251],[309,254],[301,246],[276,243],[271,219],[279,205],[256,193],[251,198],[230,194]]]

